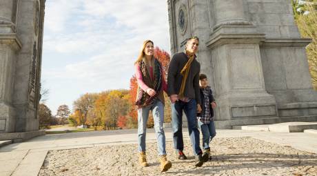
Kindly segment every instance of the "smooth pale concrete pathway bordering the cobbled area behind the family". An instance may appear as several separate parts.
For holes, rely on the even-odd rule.
[[[36,137],[23,143],[0,148],[0,176],[38,175],[49,150],[92,148],[136,144],[137,130],[112,130],[85,133],[65,133]],[[183,129],[184,138],[189,138]],[[167,141],[172,141],[171,129],[165,129]],[[217,130],[216,137],[253,137],[309,153],[317,153],[317,135],[310,133],[274,133],[249,130]],[[153,129],[147,130],[147,141],[156,141]]]

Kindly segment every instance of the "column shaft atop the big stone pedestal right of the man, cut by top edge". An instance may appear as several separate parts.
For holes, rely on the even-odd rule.
[[[214,0],[214,29],[223,25],[251,25],[245,18],[243,0]]]

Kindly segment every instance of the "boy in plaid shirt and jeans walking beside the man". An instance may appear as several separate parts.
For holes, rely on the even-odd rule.
[[[199,75],[199,84],[201,86],[201,113],[198,114],[198,126],[203,134],[204,153],[210,155],[209,142],[216,136],[216,128],[214,127],[214,110],[216,101],[212,96],[212,89],[208,86],[207,76]],[[208,160],[208,159],[207,159]],[[206,161],[207,162],[207,161]]]

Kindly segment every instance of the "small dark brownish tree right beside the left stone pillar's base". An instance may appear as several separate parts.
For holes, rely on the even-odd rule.
[[[50,122],[52,120],[52,112],[48,106],[45,104],[39,104],[38,109],[38,115],[39,115],[39,128],[45,129],[50,128]]]

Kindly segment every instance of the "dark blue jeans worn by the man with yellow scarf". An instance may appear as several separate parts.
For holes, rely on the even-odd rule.
[[[197,104],[195,99],[190,99],[189,102],[176,101],[172,104],[172,128],[174,148],[179,151],[184,149],[183,132],[182,132],[182,117],[183,110],[187,117],[188,132],[190,133],[190,141],[192,141],[192,149],[195,155],[201,153],[199,146],[199,130],[197,128]]]

